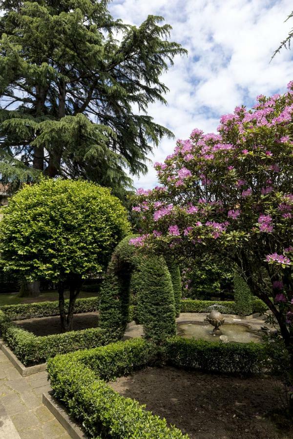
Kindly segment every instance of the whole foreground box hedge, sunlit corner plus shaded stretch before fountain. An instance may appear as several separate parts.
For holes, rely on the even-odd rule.
[[[131,339],[48,360],[54,395],[89,438],[188,438],[137,401],[116,393],[105,380],[165,362],[176,367],[250,375],[270,370],[272,352],[260,343],[219,343],[172,337],[162,348]],[[159,354],[159,355],[158,355]]]

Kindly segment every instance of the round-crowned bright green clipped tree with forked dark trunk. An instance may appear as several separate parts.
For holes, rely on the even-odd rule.
[[[109,189],[82,180],[42,180],[26,185],[5,208],[0,261],[4,270],[28,281],[58,283],[62,330],[68,331],[84,279],[105,269],[113,248],[128,231],[126,209]]]

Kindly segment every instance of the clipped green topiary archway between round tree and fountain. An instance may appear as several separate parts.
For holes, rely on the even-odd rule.
[[[131,292],[134,297],[134,303],[137,305],[135,314],[138,316],[140,323],[145,325],[146,316],[154,315],[150,308],[146,310],[145,304],[156,296],[158,301],[154,302],[153,311],[156,310],[157,312],[157,320],[166,319],[168,321],[166,323],[167,326],[174,328],[174,292],[166,262],[162,257],[155,255],[147,256],[138,252],[133,245],[129,244],[129,239],[133,237],[131,235],[123,239],[112,254],[101,289],[100,326],[113,331],[119,330],[121,335],[124,333],[129,317]],[[149,264],[147,263],[148,260]],[[147,279],[146,272],[148,273]],[[176,272],[175,269],[174,272]],[[148,291],[148,288],[151,288],[151,293]],[[170,300],[171,310],[168,308]],[[162,304],[161,310],[159,309],[159,302]],[[152,304],[150,304],[151,306]],[[166,306],[168,311],[165,316]],[[172,320],[171,322],[168,320],[169,318]],[[153,329],[152,334],[155,332],[156,329]],[[166,329],[162,334],[172,335],[174,331],[173,329]],[[160,337],[158,336],[158,338]],[[153,336],[149,338],[153,338]]]

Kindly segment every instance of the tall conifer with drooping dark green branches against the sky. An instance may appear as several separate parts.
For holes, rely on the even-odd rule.
[[[0,177],[85,178],[121,195],[172,133],[146,114],[186,51],[170,26],[113,20],[108,0],[4,0],[0,7]],[[117,39],[119,33],[119,40]]]

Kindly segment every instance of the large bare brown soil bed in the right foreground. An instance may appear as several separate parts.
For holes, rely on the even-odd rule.
[[[172,367],[147,369],[109,383],[121,395],[175,424],[191,439],[292,439],[293,424],[279,430],[272,412],[281,408],[274,380],[241,379]]]

